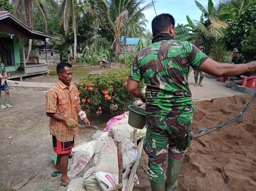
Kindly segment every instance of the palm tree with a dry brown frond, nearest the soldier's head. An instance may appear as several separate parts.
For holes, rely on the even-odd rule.
[[[153,4],[148,3],[140,8],[145,0],[95,0],[95,3],[100,10],[97,18],[100,20],[102,27],[108,28],[114,37],[115,57],[118,60],[121,33],[125,28],[126,31],[134,30],[135,33],[136,28],[141,29],[145,21],[138,23],[145,19],[143,11],[151,8]]]

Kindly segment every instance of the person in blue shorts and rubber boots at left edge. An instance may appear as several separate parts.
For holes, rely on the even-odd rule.
[[[9,95],[9,87],[6,82],[8,78],[5,65],[2,63],[2,57],[0,55],[0,107],[1,109],[12,108],[9,103],[10,95]],[[6,95],[4,97],[6,105],[3,105],[3,97],[1,97],[1,91],[5,91]]]

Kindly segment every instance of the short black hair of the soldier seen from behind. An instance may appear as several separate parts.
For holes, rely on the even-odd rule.
[[[171,14],[163,13],[157,15],[152,20],[152,32],[153,36],[155,37],[159,33],[165,31],[170,27],[171,25],[175,25],[174,17]]]

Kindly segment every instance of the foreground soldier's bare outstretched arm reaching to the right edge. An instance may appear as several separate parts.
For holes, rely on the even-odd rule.
[[[216,77],[239,75],[244,72],[256,72],[256,61],[247,64],[219,63],[208,58],[198,69]]]

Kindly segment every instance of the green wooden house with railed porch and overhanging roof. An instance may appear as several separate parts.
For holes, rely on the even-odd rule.
[[[23,39],[39,39],[46,42],[46,38],[60,40],[60,37],[32,30],[2,8],[0,8],[0,26],[0,55],[6,66],[6,72],[11,74],[9,79],[20,78],[22,80],[22,77],[29,75],[48,74],[48,54],[45,54],[45,62],[26,63]],[[23,63],[20,62],[19,39],[22,44]],[[46,43],[45,50],[47,50]],[[17,70],[18,68],[22,68],[23,71]]]

